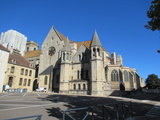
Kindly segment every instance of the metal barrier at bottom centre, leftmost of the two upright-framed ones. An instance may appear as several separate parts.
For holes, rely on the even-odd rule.
[[[72,120],[76,120],[75,117],[77,116],[73,116],[71,114],[71,112],[76,112],[79,110],[86,110],[86,114],[84,116],[81,116],[82,119],[81,120],[86,120],[86,118],[90,115],[91,113],[91,119],[90,120],[94,120],[94,114],[93,114],[93,106],[91,107],[83,107],[83,108],[76,108],[76,109],[69,109],[69,110],[64,110],[63,111],[63,120],[66,120],[66,116],[68,116],[69,118],[71,118]]]

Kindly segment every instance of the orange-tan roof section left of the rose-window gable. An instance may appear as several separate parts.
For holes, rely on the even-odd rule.
[[[41,49],[39,50],[34,50],[34,51],[28,51],[25,52],[24,58],[32,58],[32,57],[38,57],[41,54]]]

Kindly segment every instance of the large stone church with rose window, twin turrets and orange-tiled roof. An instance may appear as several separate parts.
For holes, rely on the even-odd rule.
[[[106,96],[143,86],[136,69],[123,66],[121,55],[107,52],[96,31],[90,41],[75,42],[52,27],[41,50],[28,51],[24,57],[34,63],[38,59],[33,84],[47,91]]]

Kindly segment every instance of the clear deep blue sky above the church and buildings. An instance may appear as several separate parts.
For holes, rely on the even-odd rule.
[[[160,77],[160,32],[144,27],[152,0],[0,0],[0,33],[9,29],[41,46],[54,26],[70,40],[91,40],[122,55],[123,65],[146,79]]]

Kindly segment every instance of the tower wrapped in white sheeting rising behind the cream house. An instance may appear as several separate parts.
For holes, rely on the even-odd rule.
[[[13,49],[19,50],[22,56],[26,49],[26,42],[27,37],[15,30],[2,32],[0,36],[0,44],[8,48],[10,51]]]

